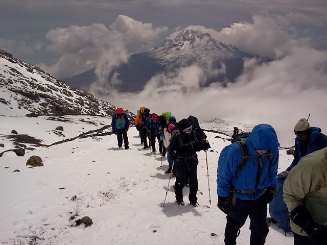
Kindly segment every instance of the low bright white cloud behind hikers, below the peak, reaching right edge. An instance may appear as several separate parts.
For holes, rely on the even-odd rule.
[[[190,114],[201,120],[225,118],[247,124],[268,123],[284,146],[291,146],[296,121],[311,113],[312,126],[323,128],[327,116],[327,52],[295,47],[285,58],[261,66],[245,62],[236,83],[200,88],[204,72],[190,66],[176,74],[156,76],[129,99],[110,102],[136,111],[146,106],[153,113],[171,111],[177,119]],[[120,95],[121,96],[121,95]]]

